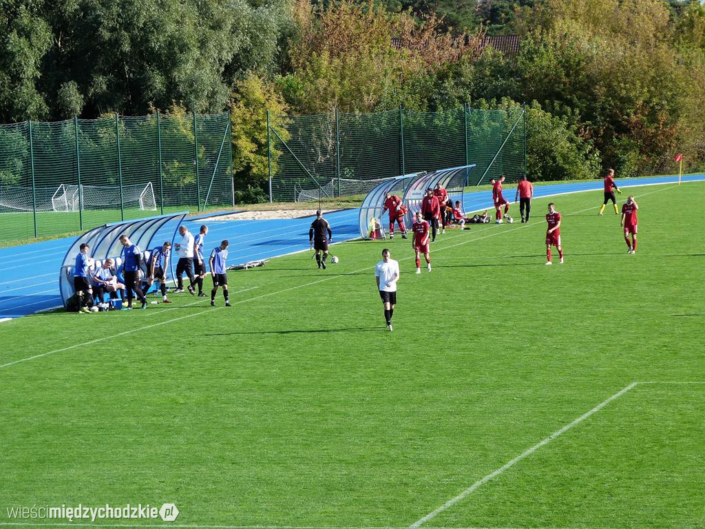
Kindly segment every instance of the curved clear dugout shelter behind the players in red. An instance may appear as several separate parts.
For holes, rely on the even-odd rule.
[[[470,171],[474,167],[475,164],[470,164],[439,169],[438,171],[407,174],[380,183],[367,193],[360,206],[360,236],[370,238],[371,220],[375,219],[379,221],[380,231],[386,238],[384,231],[386,219],[383,218],[382,209],[387,193],[401,197],[403,204],[409,209],[404,219],[407,228],[411,227],[414,215],[420,211],[426,190],[428,188],[435,189],[437,184],[441,184],[441,187],[448,191],[448,200],[453,200],[453,202],[460,200],[462,204],[465,186],[470,178]]]

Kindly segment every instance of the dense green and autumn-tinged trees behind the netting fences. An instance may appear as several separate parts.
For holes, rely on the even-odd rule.
[[[0,4],[0,122],[230,106],[243,200],[262,196],[264,107],[526,102],[532,178],[672,171],[677,152],[690,169],[705,165],[696,0]],[[485,34],[519,35],[518,56],[480,51]]]

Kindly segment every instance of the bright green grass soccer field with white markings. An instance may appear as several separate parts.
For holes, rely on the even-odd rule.
[[[18,506],[167,502],[171,524],[94,525],[704,527],[705,184],[627,194],[636,255],[593,191],[448,230],[430,274],[410,241],[353,241],[325,271],[298,253],[231,272],[232,308],[180,294],[2,324],[0,526],[72,525]]]

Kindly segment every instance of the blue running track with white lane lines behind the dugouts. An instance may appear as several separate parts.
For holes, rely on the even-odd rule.
[[[674,183],[674,176],[653,178],[620,178],[620,187],[648,186]],[[705,181],[705,174],[683,177],[684,182]],[[563,193],[602,190],[602,181],[560,183],[534,187],[534,197]],[[505,197],[512,200],[514,188],[505,189]],[[491,210],[491,191],[466,193],[465,212]],[[492,212],[494,214],[494,212]],[[333,242],[350,241],[360,236],[357,227],[359,209],[326,214],[333,229]],[[216,246],[221,239],[230,241],[228,264],[234,265],[307,250],[308,229],[312,217],[302,219],[232,220],[213,221],[207,218],[190,218],[185,224],[192,233],[200,224],[208,224],[207,247]],[[0,322],[13,317],[34,314],[61,305],[59,296],[59,267],[66,250],[75,238],[61,238],[11,248],[0,249]],[[155,241],[161,241],[159,234]],[[155,244],[156,245],[156,244]],[[146,249],[146,248],[143,248]]]

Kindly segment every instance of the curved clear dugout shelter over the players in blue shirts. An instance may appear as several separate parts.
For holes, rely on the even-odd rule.
[[[73,242],[71,248],[68,248],[59,272],[59,292],[61,293],[64,307],[66,307],[66,300],[71,298],[74,293],[73,267],[76,255],[80,253],[82,244],[85,243],[90,247],[88,255],[95,260],[91,272],[100,267],[104,260],[109,258],[114,260],[116,268],[120,267],[122,264],[121,253],[123,251],[123,245],[120,242],[121,235],[127,235],[130,238],[130,242],[136,244],[142,250],[142,258],[146,262],[149,259],[149,250],[153,246],[161,246],[164,241],[171,241],[173,248],[173,241],[176,238],[178,227],[187,214],[188,212],[180,212],[147,219],[113,222],[97,226],[83,233],[82,236]],[[144,266],[143,263],[142,267]],[[169,260],[169,268],[170,275],[173,278],[171,260]]]

